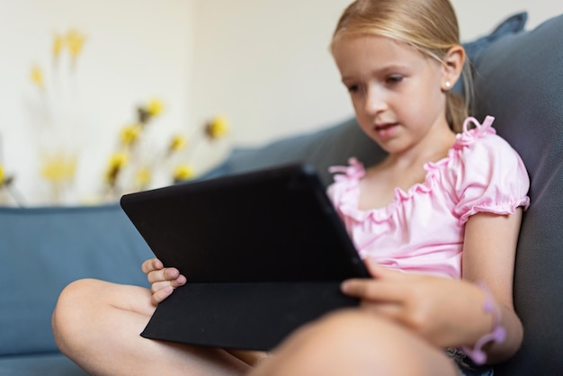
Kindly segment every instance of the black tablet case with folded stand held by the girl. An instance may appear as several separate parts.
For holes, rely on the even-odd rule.
[[[357,305],[340,282],[369,276],[308,165],[131,193],[121,207],[188,279],[157,307],[147,338],[270,350],[327,311]]]

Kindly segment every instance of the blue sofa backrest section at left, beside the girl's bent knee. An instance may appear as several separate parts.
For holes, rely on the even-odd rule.
[[[119,205],[0,208],[0,355],[57,352],[50,318],[80,278],[147,285],[152,255]]]

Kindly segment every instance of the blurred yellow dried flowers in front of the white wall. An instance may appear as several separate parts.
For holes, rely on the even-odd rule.
[[[61,126],[61,123],[79,123],[75,113],[78,107],[76,69],[85,40],[85,35],[76,30],[56,34],[51,48],[51,70],[44,71],[38,64],[31,68],[31,83],[39,95],[37,109],[41,112],[40,120],[46,123],[41,125],[50,136],[40,149],[40,176],[49,186],[48,204],[80,203],[75,192],[78,151],[76,146],[61,143],[57,138],[64,133],[61,129],[68,125]],[[147,129],[163,111],[164,104],[158,99],[135,109],[135,121],[120,130],[117,147],[104,171],[103,192],[94,202],[117,201],[125,192],[146,190],[154,183],[156,172],[166,171],[169,184],[192,179],[197,173],[191,160],[198,145],[221,139],[228,132],[227,119],[219,116],[203,124],[193,137],[174,135],[164,148],[146,148]],[[8,174],[2,163],[1,141],[0,138],[0,203],[12,201],[22,206],[24,201],[15,188],[15,175]]]

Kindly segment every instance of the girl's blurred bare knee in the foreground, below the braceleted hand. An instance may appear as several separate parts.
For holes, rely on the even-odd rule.
[[[250,375],[458,375],[442,350],[360,310],[332,313],[302,327],[274,353]]]

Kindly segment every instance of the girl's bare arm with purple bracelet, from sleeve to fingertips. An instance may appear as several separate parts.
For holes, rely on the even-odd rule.
[[[506,329],[503,343],[485,346],[487,363],[509,358],[522,342],[523,329],[514,313],[514,255],[522,210],[514,215],[479,213],[466,224],[463,280],[402,273],[366,260],[373,279],[343,283],[344,293],[360,298],[362,309],[410,327],[438,347],[472,347],[493,329],[494,317],[483,306],[484,282],[500,310]]]

